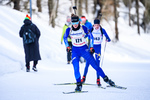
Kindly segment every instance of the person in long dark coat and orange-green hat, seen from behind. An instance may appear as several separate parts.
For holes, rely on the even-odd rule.
[[[40,31],[37,26],[32,23],[30,16],[26,15],[24,25],[21,27],[19,35],[23,38],[26,71],[30,71],[30,61],[33,61],[32,69],[37,72],[36,65],[38,64],[38,60],[41,60],[39,51]]]

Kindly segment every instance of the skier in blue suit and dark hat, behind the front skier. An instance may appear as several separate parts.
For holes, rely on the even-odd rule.
[[[111,40],[110,40],[109,36],[107,35],[105,29],[103,29],[100,26],[100,20],[99,19],[94,20],[94,26],[91,30],[91,34],[94,37],[93,48],[95,50],[96,62],[97,62],[97,65],[100,66],[101,43],[103,41],[103,35],[106,37],[106,42],[110,42]],[[81,80],[82,83],[84,83],[85,80],[86,80],[86,75],[87,75],[87,72],[88,72],[89,65],[90,65],[89,62],[86,62],[86,66],[85,66],[85,69],[84,69],[84,74],[83,74],[83,77],[82,77],[82,80]],[[101,86],[100,77],[99,77],[98,72],[97,72],[97,85]]]

